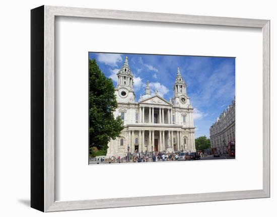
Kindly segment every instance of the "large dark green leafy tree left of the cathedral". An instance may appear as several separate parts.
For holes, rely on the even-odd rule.
[[[89,146],[90,156],[106,155],[108,142],[120,135],[123,121],[117,108],[112,80],[106,78],[95,59],[89,62]]]

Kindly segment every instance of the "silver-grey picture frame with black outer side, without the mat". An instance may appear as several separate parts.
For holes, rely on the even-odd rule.
[[[257,190],[179,195],[55,200],[55,19],[58,16],[262,30],[263,187]],[[31,207],[44,212],[270,197],[270,21],[180,14],[41,6],[31,10]]]

